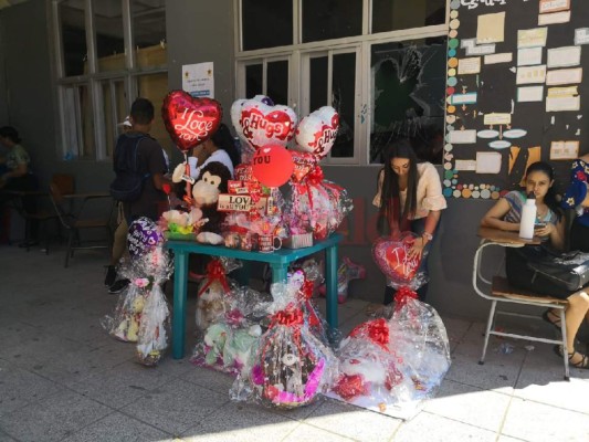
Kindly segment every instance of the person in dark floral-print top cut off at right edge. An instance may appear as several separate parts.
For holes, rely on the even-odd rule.
[[[572,250],[589,252],[589,154],[583,155],[572,162],[570,170],[570,185],[562,198],[565,209],[575,210],[575,219],[570,228]]]

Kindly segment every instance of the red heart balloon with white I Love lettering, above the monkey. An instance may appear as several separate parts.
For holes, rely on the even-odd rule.
[[[215,99],[194,98],[183,91],[170,92],[161,105],[166,129],[183,152],[209,139],[222,116],[223,109]]]

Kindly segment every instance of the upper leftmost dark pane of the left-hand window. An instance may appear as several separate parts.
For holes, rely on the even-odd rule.
[[[63,72],[65,76],[83,75],[87,59],[84,6],[74,0],[60,3]]]

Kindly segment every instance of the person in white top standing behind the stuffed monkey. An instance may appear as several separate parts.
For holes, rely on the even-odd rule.
[[[188,158],[190,177],[198,179],[200,169],[213,161],[223,164],[231,172],[231,178],[234,167],[240,162],[240,154],[233,137],[223,123],[211,138],[192,149],[192,156]]]

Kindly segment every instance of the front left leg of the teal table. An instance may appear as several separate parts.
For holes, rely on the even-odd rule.
[[[188,255],[187,252],[180,251],[175,251],[173,255],[173,309],[171,320],[171,350],[173,359],[181,359],[185,356]]]

